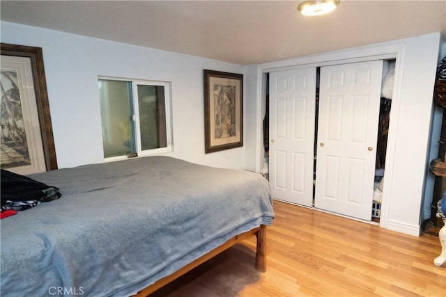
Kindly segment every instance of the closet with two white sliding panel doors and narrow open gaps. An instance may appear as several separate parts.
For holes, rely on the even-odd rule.
[[[270,72],[274,198],[362,220],[379,217],[380,201],[374,200],[385,167],[388,65],[379,60]]]

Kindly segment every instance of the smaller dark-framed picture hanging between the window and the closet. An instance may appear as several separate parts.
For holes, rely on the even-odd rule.
[[[243,74],[203,74],[206,154],[243,147]]]

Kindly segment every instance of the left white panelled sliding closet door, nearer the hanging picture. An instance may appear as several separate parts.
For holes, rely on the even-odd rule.
[[[270,74],[272,197],[313,206],[316,67]]]

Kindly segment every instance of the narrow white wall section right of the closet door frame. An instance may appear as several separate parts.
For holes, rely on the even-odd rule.
[[[434,177],[429,173],[433,122],[433,86],[440,34],[402,41],[405,45],[401,104],[395,131],[392,183],[388,195],[389,229],[414,234],[420,230],[424,200],[432,200]],[[438,147],[437,147],[438,151]],[[415,234],[414,234],[415,235]]]

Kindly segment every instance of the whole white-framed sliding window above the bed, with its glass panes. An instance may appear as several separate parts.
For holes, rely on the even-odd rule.
[[[169,90],[161,81],[99,79],[106,159],[172,150]]]

